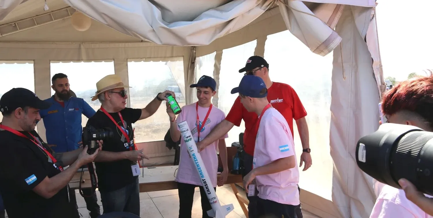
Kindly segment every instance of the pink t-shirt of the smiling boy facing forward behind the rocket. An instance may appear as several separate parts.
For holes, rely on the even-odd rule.
[[[182,112],[178,115],[177,122],[187,121],[188,126],[191,130],[191,134],[194,138],[194,141],[197,142],[197,112],[196,112],[196,103],[189,104],[182,107]],[[198,117],[200,119],[200,125],[203,122],[203,119],[206,117],[207,111],[209,108],[202,108],[198,106]],[[219,108],[212,106],[209,117],[204,123],[203,128],[200,131],[200,141],[203,140],[209,134],[209,132],[218,125],[221,121],[226,118],[226,115]],[[179,130],[179,127],[178,127]],[[180,130],[179,130],[180,131]],[[228,138],[229,136],[226,134],[220,139]],[[204,148],[203,151],[200,151],[200,157],[203,160],[204,167],[206,167],[207,174],[210,177],[210,181],[212,182],[213,187],[216,187],[216,173],[218,171],[218,157],[216,156],[216,147],[218,145],[218,140],[214,141],[212,144],[209,144]],[[197,186],[201,186],[201,180],[197,172],[197,168],[194,166],[191,161],[191,157],[187,152],[186,143],[181,140],[181,154],[179,160],[178,172],[176,175],[176,179],[174,181],[179,183],[188,183]]]

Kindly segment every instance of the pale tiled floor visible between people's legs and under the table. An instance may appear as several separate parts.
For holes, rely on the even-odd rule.
[[[244,193],[239,187],[240,193]],[[233,195],[233,191],[229,185],[216,188],[216,195],[221,202],[221,205],[233,204],[234,210],[230,212],[226,218],[245,218],[236,197]],[[89,212],[86,208],[86,202],[81,197],[78,190],[76,190],[78,212],[84,218],[89,218]],[[100,194],[97,191],[98,203],[101,205],[101,213],[103,212],[102,204],[100,201]],[[244,194],[245,197],[245,194]],[[178,190],[166,190],[158,192],[142,192],[140,193],[140,217],[142,218],[177,218],[179,212],[179,196]],[[307,211],[302,212],[304,218],[319,218]],[[201,202],[200,202],[200,191],[196,188],[194,194],[194,204],[192,209],[192,218],[201,218]],[[7,216],[6,216],[7,217]]]

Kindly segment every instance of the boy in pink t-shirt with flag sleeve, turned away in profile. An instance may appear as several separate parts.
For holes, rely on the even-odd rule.
[[[259,115],[257,138],[253,157],[253,170],[244,177],[247,192],[255,180],[258,216],[296,217],[300,204],[297,183],[299,170],[294,153],[291,130],[283,115],[266,98],[268,91],[260,77],[246,75],[239,87],[241,103],[249,112]]]

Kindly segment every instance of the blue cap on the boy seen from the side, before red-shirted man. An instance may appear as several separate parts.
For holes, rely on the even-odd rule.
[[[268,96],[268,90],[261,94],[262,90],[266,89],[265,82],[260,77],[245,75],[242,77],[239,87],[232,89],[232,94],[240,93],[244,96],[249,96],[252,98],[264,98]]]

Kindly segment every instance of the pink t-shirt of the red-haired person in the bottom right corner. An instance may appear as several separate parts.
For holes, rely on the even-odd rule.
[[[426,195],[427,197],[431,197]],[[402,189],[385,185],[376,200],[370,218],[433,218],[406,198]]]

